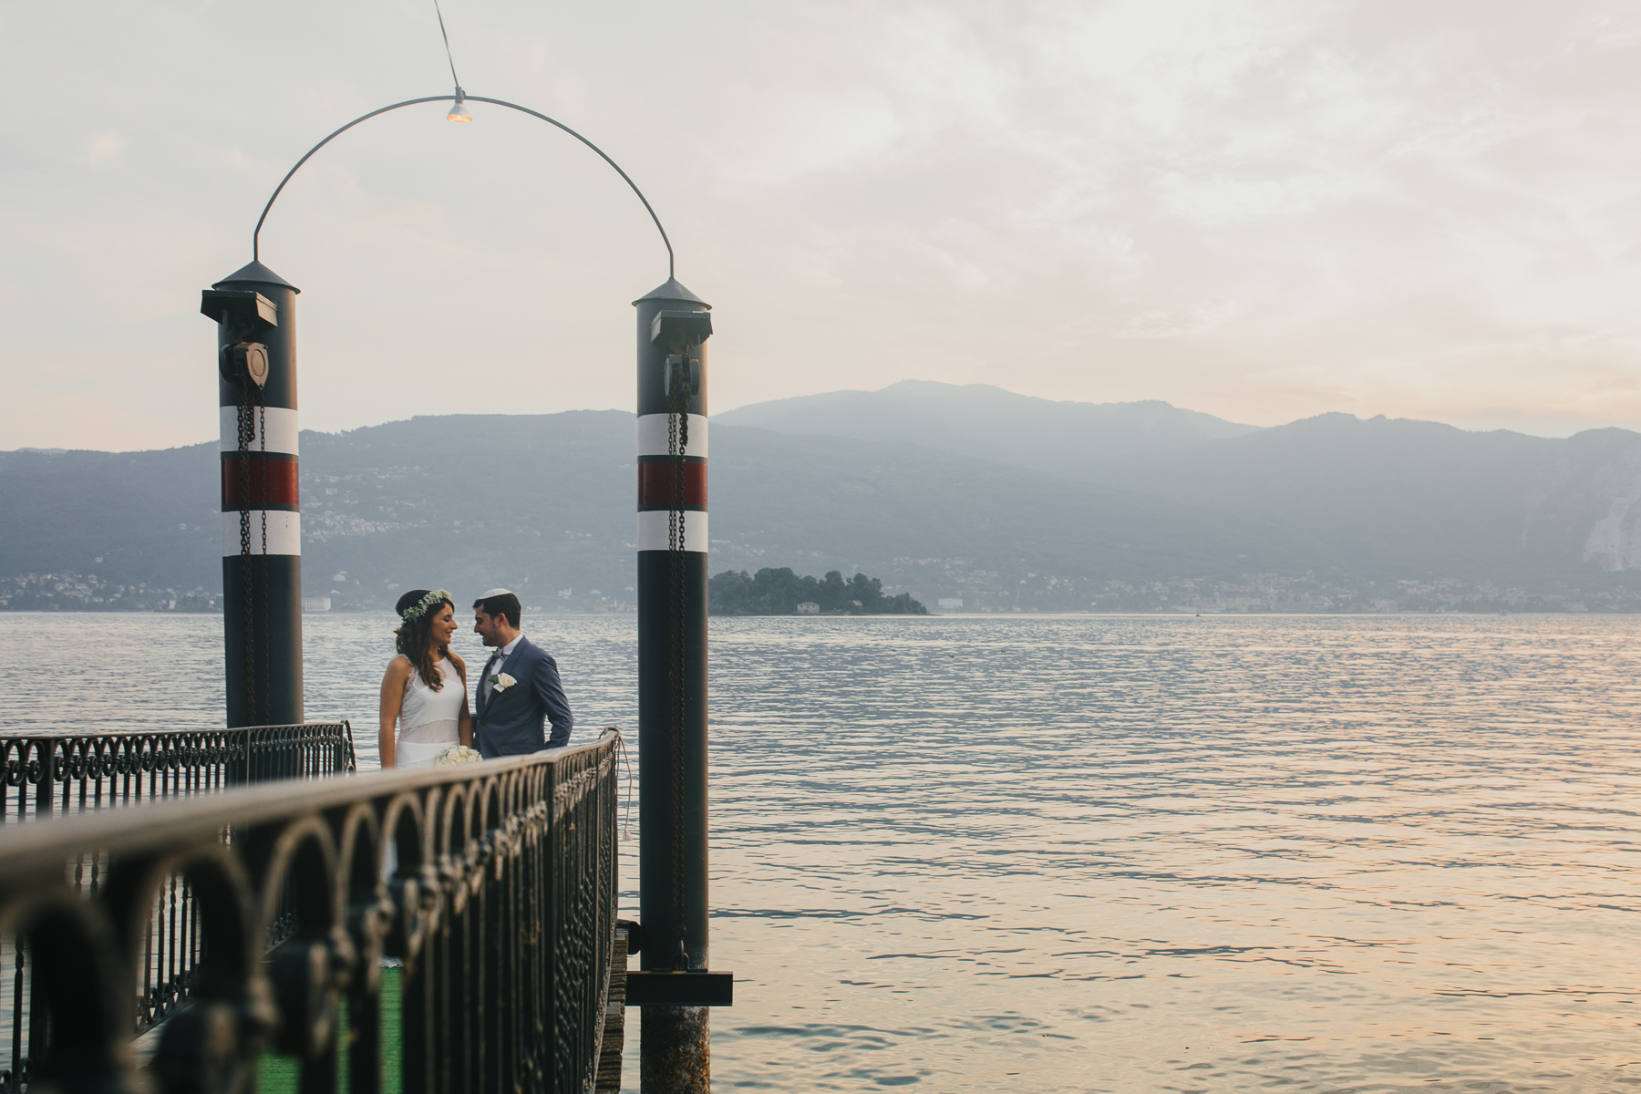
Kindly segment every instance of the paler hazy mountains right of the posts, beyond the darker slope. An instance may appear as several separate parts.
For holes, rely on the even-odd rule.
[[[1611,602],[1631,595],[1628,574],[1641,568],[1641,435],[1628,430],[1547,440],[1344,413],[1259,430],[1168,403],[1055,403],[926,382],[757,403],[722,420],[794,441],[906,436],[893,431],[904,420],[927,448],[1249,522],[1257,549],[1223,541],[1216,572],[1287,554],[1367,600],[1390,595],[1378,582],[1408,600],[1400,584],[1411,582],[1426,602],[1452,602],[1436,589],[1446,582],[1498,586],[1500,604],[1505,587],[1556,589],[1566,604],[1588,589]],[[1275,572],[1293,576],[1283,561]]]

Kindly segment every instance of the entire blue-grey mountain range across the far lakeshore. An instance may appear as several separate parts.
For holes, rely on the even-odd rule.
[[[712,572],[866,572],[963,610],[1641,609],[1626,430],[1255,428],[929,382],[740,407],[711,430]],[[335,609],[412,586],[632,602],[629,413],[420,417],[300,444],[304,590]],[[0,597],[208,605],[215,492],[215,444],[0,453],[0,579],[23,579]]]

